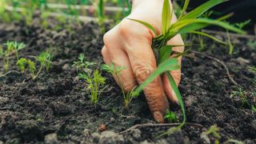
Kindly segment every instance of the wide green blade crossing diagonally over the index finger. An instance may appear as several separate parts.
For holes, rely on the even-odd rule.
[[[150,77],[146,79],[145,82],[143,82],[140,86],[138,86],[134,92],[133,95],[138,96],[140,92],[150,83],[154,80],[154,78],[157,78],[159,75],[166,71],[170,70],[178,70],[180,66],[178,65],[178,59],[177,58],[170,58],[167,59],[165,62],[162,62],[157,70],[154,70],[152,74],[150,74]]]

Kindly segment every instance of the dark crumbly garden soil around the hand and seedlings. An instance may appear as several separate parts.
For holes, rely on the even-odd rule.
[[[95,23],[85,23],[71,30],[53,30],[56,22],[50,22],[47,29],[39,23],[38,20],[32,26],[23,22],[0,23],[1,43],[8,40],[26,43],[21,57],[33,58],[48,48],[54,54],[50,71],[44,70],[35,80],[29,74],[16,72],[0,78],[0,143],[213,143],[216,138],[205,134],[213,125],[220,129],[220,142],[235,139],[256,143],[255,112],[241,97],[230,98],[236,86],[220,63],[194,53],[182,59],[179,89],[186,105],[187,122],[202,126],[186,125],[181,131],[161,138],[157,136],[170,126],[138,126],[120,134],[137,124],[155,123],[144,95],[134,99],[126,109],[114,79],[102,72],[109,86],[94,105],[86,83],[78,79],[71,66],[82,53],[87,61],[97,63],[95,69],[100,69],[102,29]],[[105,27],[108,30],[110,25]],[[197,38],[193,42],[198,43]],[[256,66],[256,47],[246,38],[232,38],[232,42],[234,54],[229,55],[227,46],[205,39],[204,53],[226,63],[230,77],[243,87],[242,94],[255,106],[256,74],[248,66]],[[0,63],[3,72],[2,59]],[[18,70],[14,62],[10,70]],[[179,106],[171,103],[170,107],[182,122]]]

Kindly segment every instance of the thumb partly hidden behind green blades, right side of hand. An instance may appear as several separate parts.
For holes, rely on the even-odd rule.
[[[184,42],[182,41],[182,37],[180,35],[177,35],[174,38],[172,38],[169,42],[167,42],[167,44],[168,45],[184,45]],[[184,51],[184,46],[173,47],[173,50],[177,51],[179,53],[182,53]],[[174,57],[174,56],[175,56],[175,54],[172,55],[171,57]],[[178,58],[178,62],[181,65],[182,57]],[[179,82],[181,81],[181,75],[182,75],[181,70],[170,71],[170,74],[173,76],[176,86],[178,86]],[[162,81],[163,81],[164,89],[165,89],[165,92],[166,92],[166,95],[168,96],[168,98],[170,98],[170,100],[173,102],[179,103],[178,98],[177,98],[176,94],[174,93],[174,90],[170,86],[170,82],[169,82],[169,79],[167,78],[166,74],[163,74]]]

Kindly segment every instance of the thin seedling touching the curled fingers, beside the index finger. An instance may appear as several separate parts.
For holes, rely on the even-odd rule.
[[[128,108],[130,102],[133,100],[133,98],[136,97],[136,95],[133,94],[134,89],[130,90],[129,92],[126,93],[124,86],[122,86],[122,82],[120,80],[119,73],[125,69],[126,69],[126,67],[124,67],[124,66],[115,66],[113,62],[110,63],[110,66],[108,66],[106,64],[102,65],[102,70],[105,70],[106,72],[113,74],[116,78],[118,78],[118,85],[121,87],[122,96],[125,101],[125,106],[126,106],[126,108]]]

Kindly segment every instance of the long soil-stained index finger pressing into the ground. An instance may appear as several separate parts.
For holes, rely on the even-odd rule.
[[[134,34],[134,31],[130,32]],[[135,39],[137,38],[136,33],[134,37]],[[128,43],[125,44],[125,50],[130,59],[134,76],[137,82],[142,84],[157,68],[150,40],[147,37],[140,36],[139,41],[129,42],[128,40],[126,42]],[[146,95],[146,100],[154,115],[154,119],[157,122],[164,122],[163,115],[166,114],[169,103],[164,93],[162,79],[160,77],[155,78],[153,82],[146,86],[144,94]]]

